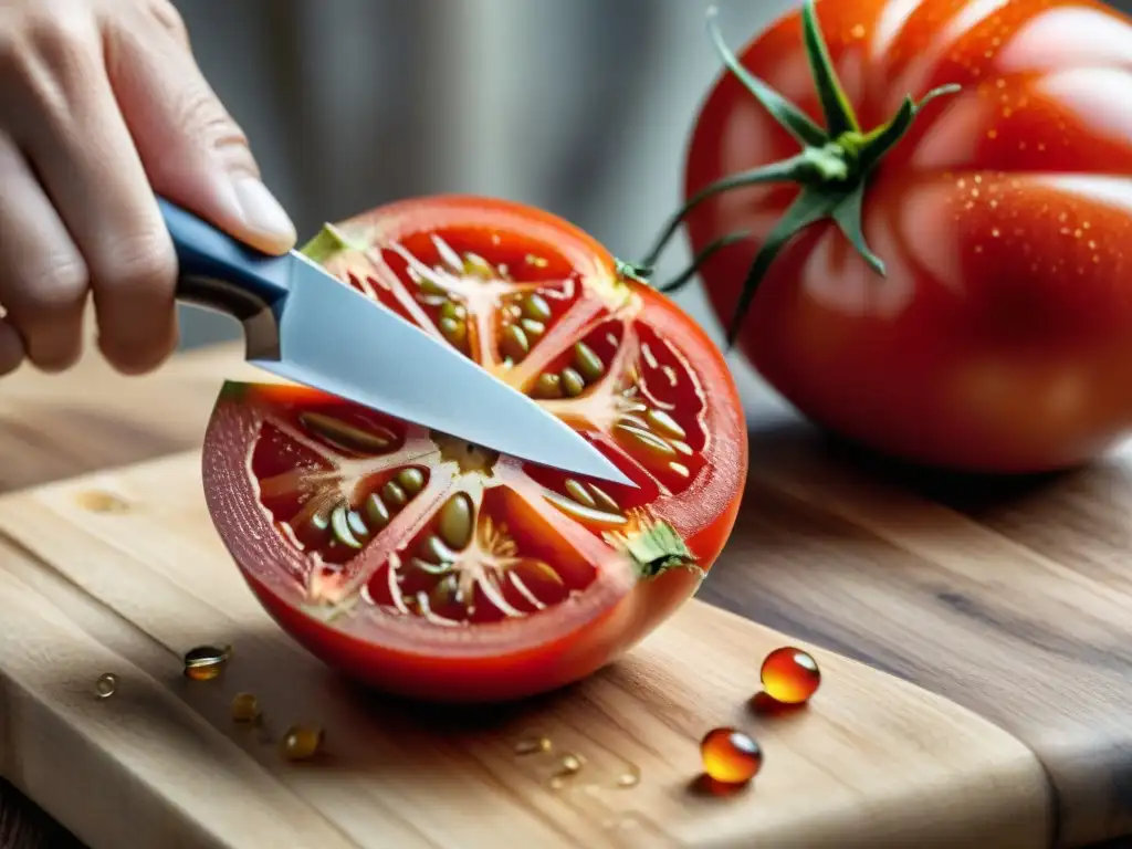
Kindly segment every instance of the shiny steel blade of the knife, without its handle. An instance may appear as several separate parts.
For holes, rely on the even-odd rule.
[[[301,254],[283,301],[280,357],[250,362],[389,415],[541,465],[636,484],[539,404]]]

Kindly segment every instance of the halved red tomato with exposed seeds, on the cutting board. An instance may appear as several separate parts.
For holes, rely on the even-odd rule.
[[[207,504],[286,632],[389,692],[496,701],[589,675],[696,590],[735,523],[747,437],[722,355],[671,301],[565,221],[494,199],[396,203],[305,250],[539,398],[638,488],[308,388],[229,384]]]

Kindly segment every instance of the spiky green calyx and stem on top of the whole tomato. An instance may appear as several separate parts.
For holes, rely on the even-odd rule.
[[[884,156],[908,132],[924,106],[936,97],[959,92],[960,87],[941,86],[928,92],[918,102],[908,96],[887,123],[867,132],[863,131],[830,59],[814,11],[814,0],[804,0],[803,38],[825,117],[825,129],[823,129],[739,63],[723,42],[715,16],[717,9],[712,7],[707,12],[707,31],[723,63],[763,109],[798,142],[801,151],[782,162],[731,174],[701,189],[669,218],[652,249],[637,265],[645,268],[654,267],[657,259],[679,230],[684,216],[710,197],[731,189],[757,185],[800,186],[801,191],[766,237],[747,272],[738,308],[728,328],[727,341],[730,346],[771,264],[782,248],[811,224],[826,218],[832,220],[873,271],[882,276],[885,274],[884,263],[869,249],[861,231],[861,204],[868,178]],[[679,289],[692,280],[696,271],[713,254],[749,235],[746,231],[738,231],[720,237],[697,254],[689,267],[679,276],[657,289],[662,292]]]

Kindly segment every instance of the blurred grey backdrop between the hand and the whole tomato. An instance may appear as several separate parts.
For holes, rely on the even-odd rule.
[[[791,2],[717,5],[737,49]],[[640,256],[680,200],[687,134],[721,68],[709,0],[177,6],[300,240],[398,197],[464,191],[546,208]],[[687,260],[677,241],[661,272]],[[679,300],[720,338],[698,289]],[[182,310],[185,346],[235,337]]]

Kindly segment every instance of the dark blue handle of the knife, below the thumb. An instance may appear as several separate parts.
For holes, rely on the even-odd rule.
[[[250,321],[277,312],[288,294],[289,257],[242,245],[163,197],[157,198],[157,206],[180,265],[178,300],[226,312],[245,323],[249,332]],[[248,342],[250,345],[252,340]]]

